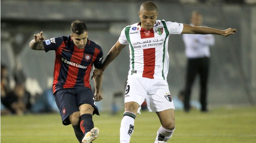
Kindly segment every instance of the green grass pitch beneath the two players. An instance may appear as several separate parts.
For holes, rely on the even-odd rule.
[[[168,143],[256,143],[256,107],[212,109],[208,113],[176,111],[176,130]],[[118,143],[122,112],[93,116],[99,137],[93,143]],[[153,143],[160,127],[154,112],[135,119],[131,143]],[[78,143],[71,125],[59,114],[1,116],[1,143]]]

